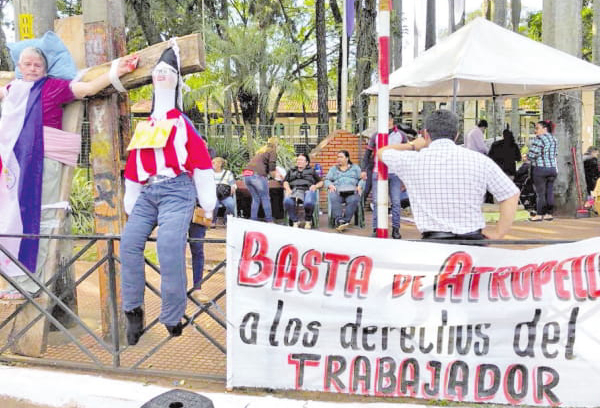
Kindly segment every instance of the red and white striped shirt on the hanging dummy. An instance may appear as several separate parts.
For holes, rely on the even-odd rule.
[[[167,119],[177,119],[165,147],[142,148],[129,152],[125,164],[125,178],[145,184],[155,175],[177,177],[194,169],[212,169],[212,162],[204,140],[196,129],[177,109],[167,112]],[[150,125],[153,119],[148,118]]]

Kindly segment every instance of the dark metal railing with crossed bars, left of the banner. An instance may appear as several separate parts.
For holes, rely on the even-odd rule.
[[[72,257],[60,262],[57,273],[46,282],[29,274],[31,280],[39,288],[35,295],[23,289],[18,281],[0,267],[0,276],[25,297],[23,303],[4,302],[0,305],[0,361],[94,371],[135,372],[170,377],[186,375],[201,379],[224,380],[225,284],[224,274],[221,272],[225,268],[225,260],[220,260],[205,274],[202,280],[204,286],[210,285],[212,280],[218,281],[212,285],[216,287],[216,290],[213,291],[209,302],[197,301],[193,292],[188,291],[186,313],[183,317],[183,335],[174,339],[167,334],[161,324],[158,324],[160,290],[157,288],[157,282],[160,266],[146,257],[145,314],[147,322],[145,334],[137,346],[129,347],[124,345],[124,321],[118,306],[117,281],[120,259],[116,253],[116,242],[120,240],[120,237],[100,235],[1,236],[77,240],[86,243],[76,250]],[[155,239],[150,238],[149,241],[153,245]],[[222,245],[225,242],[222,239],[190,239],[190,241],[203,241],[205,245]],[[79,265],[72,287],[62,288],[61,293],[54,293],[58,277],[68,273],[69,268],[76,263],[81,263],[88,251],[94,247],[96,251],[99,251],[100,247],[104,247],[105,251],[98,253],[97,260],[87,261],[87,264],[91,265]],[[15,259],[2,245],[0,245],[0,252],[20,269],[26,271],[18,259]],[[97,290],[93,293],[93,290],[90,290],[90,287],[95,286],[92,278],[99,278],[101,269],[106,271],[108,282],[108,293],[104,305],[100,300],[101,291]],[[150,272],[156,272],[156,274],[149,277]],[[76,293],[77,304],[69,305],[63,300],[73,291]],[[94,298],[93,295],[98,295],[98,297]],[[102,314],[103,306],[108,306],[108,313],[101,316],[101,319],[107,320],[108,324],[106,325],[99,324],[98,319],[98,313]],[[56,308],[60,310],[59,314],[62,315],[62,319],[57,317]],[[40,324],[45,325],[41,330],[39,330],[40,326],[36,326]],[[51,332],[51,329],[54,329],[55,332]],[[178,343],[177,347],[173,345],[174,342]],[[29,346],[31,343],[36,344],[33,350]],[[181,357],[182,350],[178,351],[180,347],[189,352],[190,359]],[[204,360],[197,355],[198,349],[203,350]],[[191,367],[192,370],[188,371],[186,367]]]

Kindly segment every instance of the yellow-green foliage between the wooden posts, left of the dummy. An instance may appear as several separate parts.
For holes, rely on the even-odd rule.
[[[71,186],[71,233],[94,233],[94,190],[93,182],[88,179],[87,169],[75,169]]]

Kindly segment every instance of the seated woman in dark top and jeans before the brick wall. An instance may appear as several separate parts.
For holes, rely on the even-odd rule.
[[[308,155],[300,153],[296,157],[296,167],[287,172],[283,181],[283,207],[287,211],[294,227],[298,227],[296,204],[304,203],[304,228],[310,229],[312,213],[317,202],[317,189],[323,186],[323,181],[316,170],[310,167]]]

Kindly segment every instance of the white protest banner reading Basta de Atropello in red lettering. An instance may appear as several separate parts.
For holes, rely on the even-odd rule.
[[[229,387],[600,402],[600,238],[511,250],[227,224]]]

